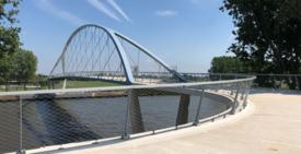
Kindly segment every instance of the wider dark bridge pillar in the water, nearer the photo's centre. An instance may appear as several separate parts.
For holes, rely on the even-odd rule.
[[[130,130],[129,131],[129,128]],[[139,133],[144,131],[142,114],[139,103],[138,90],[128,91],[128,105],[127,105],[127,115],[125,123],[125,132],[123,139],[128,139],[130,132]]]

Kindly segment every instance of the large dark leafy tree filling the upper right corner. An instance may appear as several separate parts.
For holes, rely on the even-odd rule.
[[[254,73],[301,72],[300,0],[223,0],[221,10],[235,26],[229,51]]]

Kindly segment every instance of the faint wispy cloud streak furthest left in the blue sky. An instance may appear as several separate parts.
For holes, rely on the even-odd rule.
[[[71,14],[70,12],[57,8],[55,4],[53,4],[48,0],[38,0],[37,5],[43,11],[45,11],[47,13],[50,13],[50,14],[54,14],[55,16],[57,16],[59,19],[69,21],[74,25],[82,25],[83,23],[86,23],[85,21],[83,21],[82,19]]]

